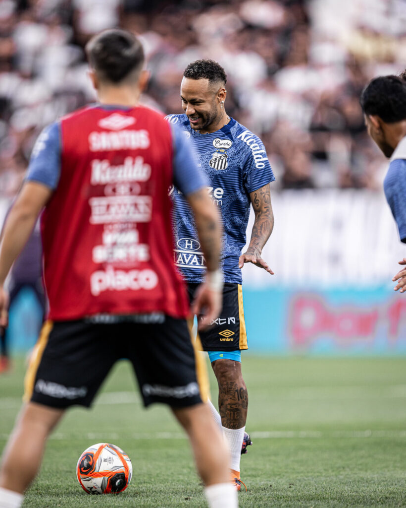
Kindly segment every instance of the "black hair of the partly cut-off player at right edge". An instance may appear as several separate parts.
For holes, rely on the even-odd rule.
[[[373,79],[359,100],[366,115],[378,115],[386,123],[406,119],[406,82],[397,76]]]

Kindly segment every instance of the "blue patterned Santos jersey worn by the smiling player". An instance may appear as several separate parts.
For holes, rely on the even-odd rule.
[[[246,243],[249,193],[275,180],[262,141],[231,118],[222,129],[200,134],[194,131],[187,115],[168,115],[193,142],[198,166],[207,174],[209,196],[223,217],[222,269],[225,282],[241,284],[238,260]],[[187,200],[176,188],[170,189],[174,201],[175,265],[188,282],[201,282],[205,260]]]

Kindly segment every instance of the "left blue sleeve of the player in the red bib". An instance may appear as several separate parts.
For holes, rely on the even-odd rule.
[[[58,122],[48,125],[36,140],[25,180],[56,189],[61,172],[61,137]]]

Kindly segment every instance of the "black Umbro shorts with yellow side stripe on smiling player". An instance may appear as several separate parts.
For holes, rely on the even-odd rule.
[[[192,302],[199,284],[188,282]],[[241,284],[226,282],[223,289],[223,308],[208,330],[199,331],[203,351],[238,351],[248,349],[245,330]]]

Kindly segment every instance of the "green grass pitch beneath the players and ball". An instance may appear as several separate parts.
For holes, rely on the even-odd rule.
[[[406,358],[243,356],[254,444],[241,459],[248,487],[241,507],[406,506]],[[0,376],[0,449],[22,377],[22,361]],[[119,496],[87,495],[76,480],[79,455],[101,441],[132,460],[132,482]],[[121,362],[93,409],[72,409],[56,429],[23,506],[205,505],[188,441],[167,408],[142,409],[130,366]]]

